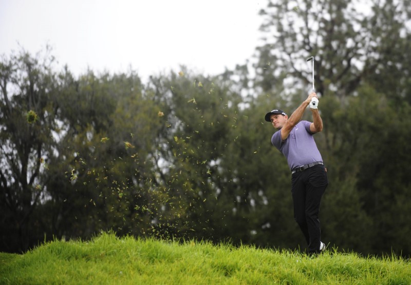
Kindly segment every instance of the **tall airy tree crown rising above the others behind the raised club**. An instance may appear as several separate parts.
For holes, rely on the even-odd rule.
[[[343,97],[372,80],[384,82],[378,90],[403,97],[402,88],[386,87],[407,84],[410,7],[402,0],[368,1],[367,7],[342,0],[269,1],[260,12],[266,44],[257,48],[256,85],[267,91],[285,72],[289,87],[308,89],[305,59],[313,55],[319,94]]]

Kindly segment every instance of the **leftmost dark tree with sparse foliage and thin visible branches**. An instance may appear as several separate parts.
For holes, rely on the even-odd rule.
[[[55,146],[57,94],[53,57],[24,50],[0,63],[0,208],[2,250],[27,250],[31,216],[46,199],[47,159]]]

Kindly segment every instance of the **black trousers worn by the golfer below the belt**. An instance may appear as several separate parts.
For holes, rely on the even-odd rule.
[[[294,219],[307,240],[309,253],[320,250],[320,203],[327,185],[327,172],[321,164],[291,176]]]

